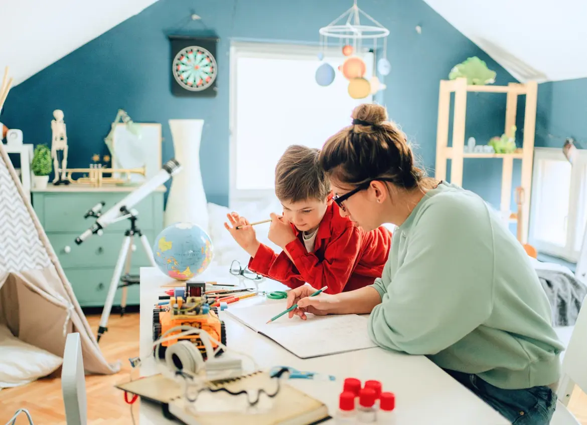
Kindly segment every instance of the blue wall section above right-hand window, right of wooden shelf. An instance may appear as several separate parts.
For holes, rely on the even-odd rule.
[[[566,137],[587,148],[587,78],[538,86],[536,146],[562,148]]]

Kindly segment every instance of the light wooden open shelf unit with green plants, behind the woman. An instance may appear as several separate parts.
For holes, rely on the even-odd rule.
[[[505,134],[510,134],[512,125],[515,125],[518,96],[526,96],[524,110],[524,139],[522,148],[512,154],[485,154],[465,152],[465,115],[467,114],[468,92],[507,93],[505,104]],[[448,127],[450,115],[450,94],[454,92],[453,117],[453,146],[448,147]],[[536,103],[538,84],[536,81],[528,83],[509,83],[507,86],[471,86],[467,79],[441,80],[438,96],[438,124],[436,135],[436,174],[435,178],[446,180],[447,159],[451,159],[450,182],[463,185],[464,158],[502,158],[503,170],[501,177],[502,216],[511,210],[512,198],[512,169],[514,158],[522,160],[521,187],[525,193],[531,193],[532,188],[532,161],[534,159],[534,134],[536,130]],[[520,242],[528,243],[528,217],[530,213],[530,199],[525,196],[522,202],[522,220]],[[509,217],[509,214],[507,215]],[[506,219],[506,221],[509,221]]]

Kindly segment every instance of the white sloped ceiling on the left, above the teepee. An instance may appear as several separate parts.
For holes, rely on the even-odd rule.
[[[14,87],[156,1],[0,0],[0,79],[8,65]]]

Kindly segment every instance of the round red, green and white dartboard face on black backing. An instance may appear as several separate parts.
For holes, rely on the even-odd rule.
[[[205,90],[216,79],[216,60],[204,47],[185,47],[173,60],[173,76],[185,90]]]

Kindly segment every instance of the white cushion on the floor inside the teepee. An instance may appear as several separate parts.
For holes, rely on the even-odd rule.
[[[16,387],[50,375],[63,359],[27,344],[0,324],[0,389]]]

